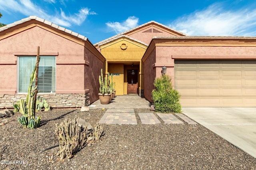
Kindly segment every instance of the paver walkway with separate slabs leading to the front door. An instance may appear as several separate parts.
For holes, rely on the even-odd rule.
[[[137,124],[134,109],[150,109],[150,102],[141,98],[138,95],[117,96],[110,104],[100,104],[97,100],[89,107],[90,109],[105,108],[107,109],[99,123],[106,124]],[[172,113],[156,113],[166,124],[183,124],[184,122],[178,119],[180,117],[187,123],[196,124],[183,114],[173,115]],[[160,119],[152,112],[138,113],[142,124],[159,124]]]

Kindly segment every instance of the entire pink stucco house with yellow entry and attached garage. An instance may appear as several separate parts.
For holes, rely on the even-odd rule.
[[[101,68],[113,74],[116,95],[138,94],[152,102],[153,82],[164,66],[183,107],[256,104],[256,37],[188,36],[150,21],[92,45],[78,33],[30,16],[0,28],[0,107],[25,97],[36,46],[40,96],[52,107],[98,100]]]

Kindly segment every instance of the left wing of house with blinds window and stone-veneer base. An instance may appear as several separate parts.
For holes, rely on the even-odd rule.
[[[52,107],[98,100],[105,58],[83,35],[30,16],[0,28],[0,107],[24,98],[40,47],[38,89]]]

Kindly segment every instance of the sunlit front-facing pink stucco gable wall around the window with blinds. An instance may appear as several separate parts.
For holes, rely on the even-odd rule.
[[[3,39],[0,41],[0,46],[3,49],[0,52],[1,60],[9,58],[16,60],[17,57],[14,55],[36,54],[37,46],[40,47],[40,55],[47,52],[58,53],[58,56],[56,56],[56,92],[58,90],[84,89],[83,65],[58,64],[58,61],[84,60],[84,47],[82,45],[40,27],[33,27]],[[6,80],[5,84],[2,85],[2,90],[9,88],[8,84],[15,84],[15,87],[12,88],[17,89],[16,68],[10,70],[9,74],[12,75],[12,78]]]

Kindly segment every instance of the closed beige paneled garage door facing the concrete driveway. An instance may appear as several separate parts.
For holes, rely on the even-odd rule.
[[[256,107],[256,60],[175,60],[183,107]]]

